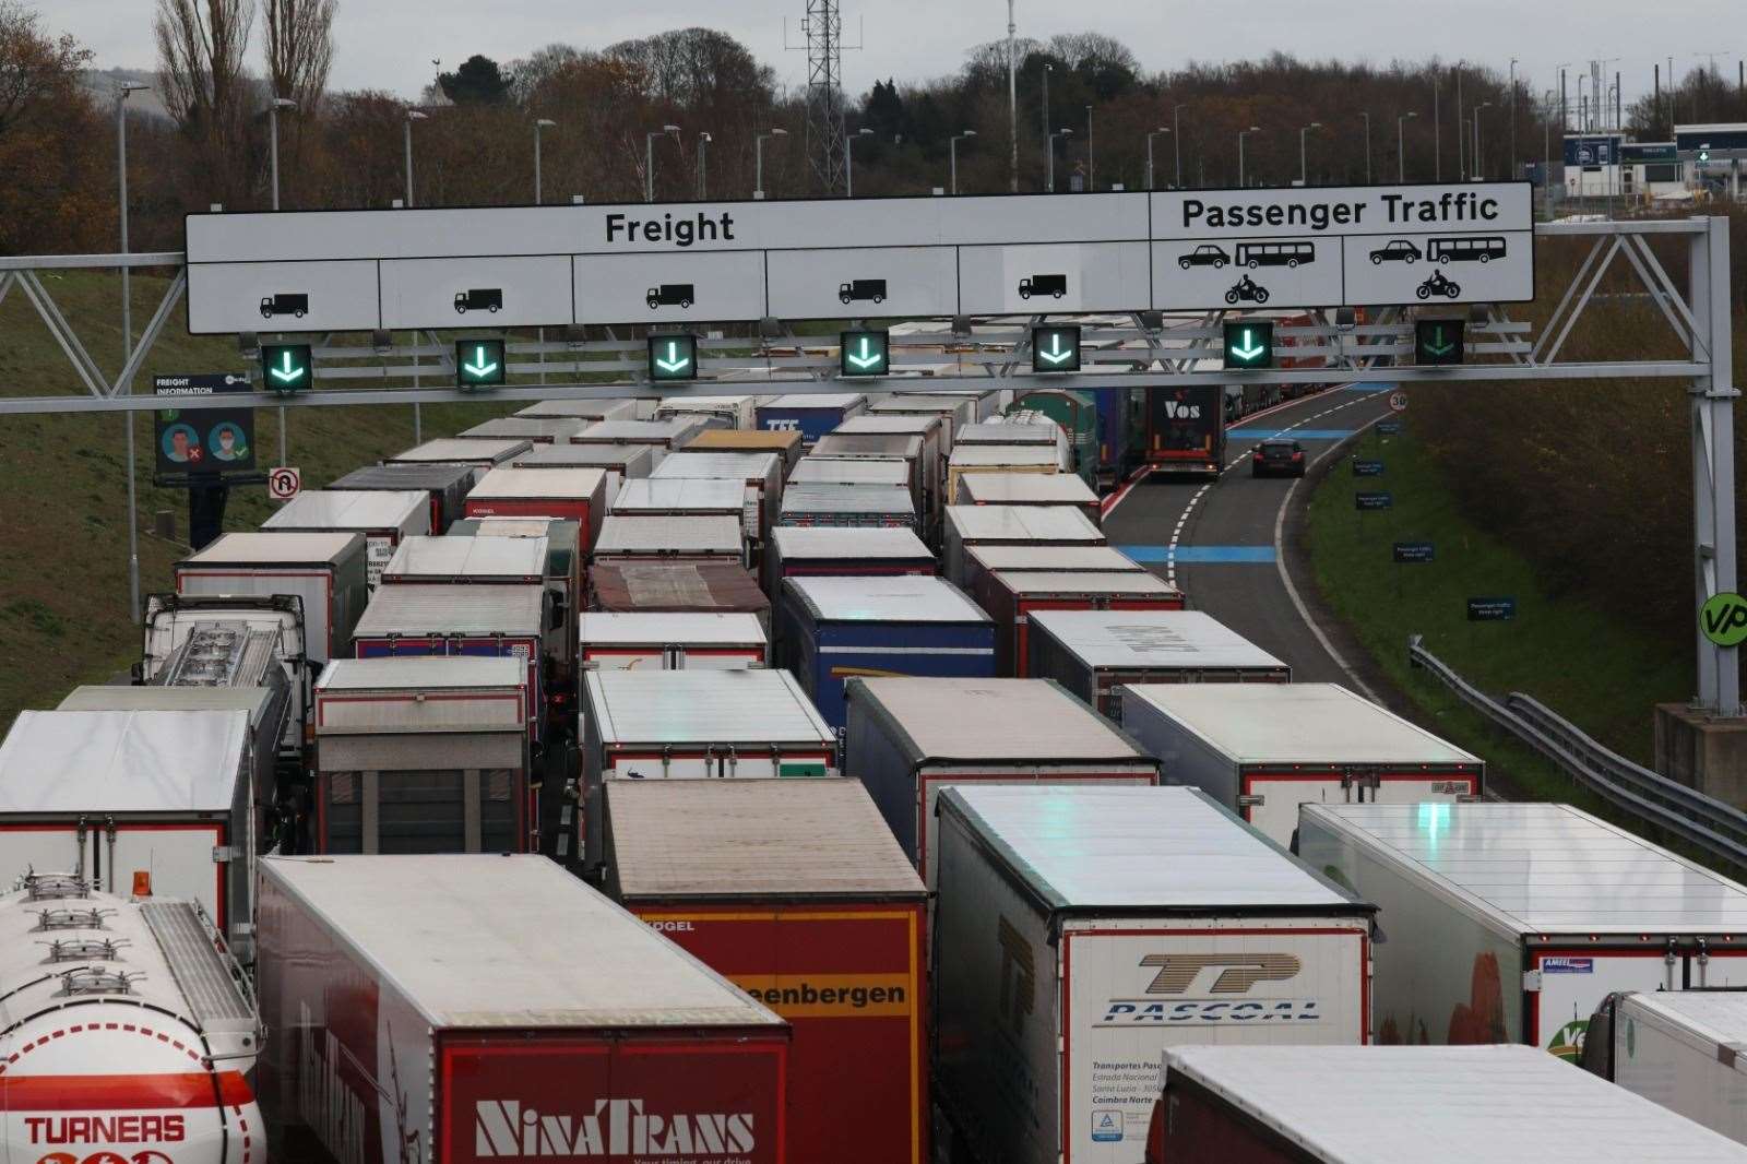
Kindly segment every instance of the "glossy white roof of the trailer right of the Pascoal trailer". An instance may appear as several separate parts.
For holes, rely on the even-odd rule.
[[[1305,804],[1515,933],[1747,933],[1747,886],[1569,804]]]

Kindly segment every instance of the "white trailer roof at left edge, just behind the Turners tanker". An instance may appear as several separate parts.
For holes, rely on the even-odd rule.
[[[248,711],[19,711],[0,813],[227,813],[248,739]]]

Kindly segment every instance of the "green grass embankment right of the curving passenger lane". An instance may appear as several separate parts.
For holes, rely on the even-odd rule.
[[[1415,388],[1452,391],[1459,388]],[[1639,762],[1649,762],[1653,703],[1689,696],[1688,650],[1611,619],[1581,596],[1553,598],[1537,570],[1459,509],[1443,472],[1413,435],[1363,437],[1310,498],[1310,559],[1322,599],[1354,629],[1387,676],[1455,743],[1501,769],[1513,792],[1592,806],[1557,767],[1509,741],[1431,675],[1406,661],[1410,634],[1481,690],[1522,690]],[[1350,458],[1382,460],[1382,477],[1354,477]],[[1356,491],[1385,489],[1394,505],[1357,512]],[[1429,563],[1396,565],[1394,542],[1431,542]],[[1469,622],[1467,599],[1511,596],[1516,617]]]

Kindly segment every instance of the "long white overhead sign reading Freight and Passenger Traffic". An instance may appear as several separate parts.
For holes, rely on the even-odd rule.
[[[189,330],[1534,297],[1525,182],[199,213]]]

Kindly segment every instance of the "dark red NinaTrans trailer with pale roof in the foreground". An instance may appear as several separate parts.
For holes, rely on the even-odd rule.
[[[269,1155],[784,1164],[790,1029],[543,856],[262,862]]]

